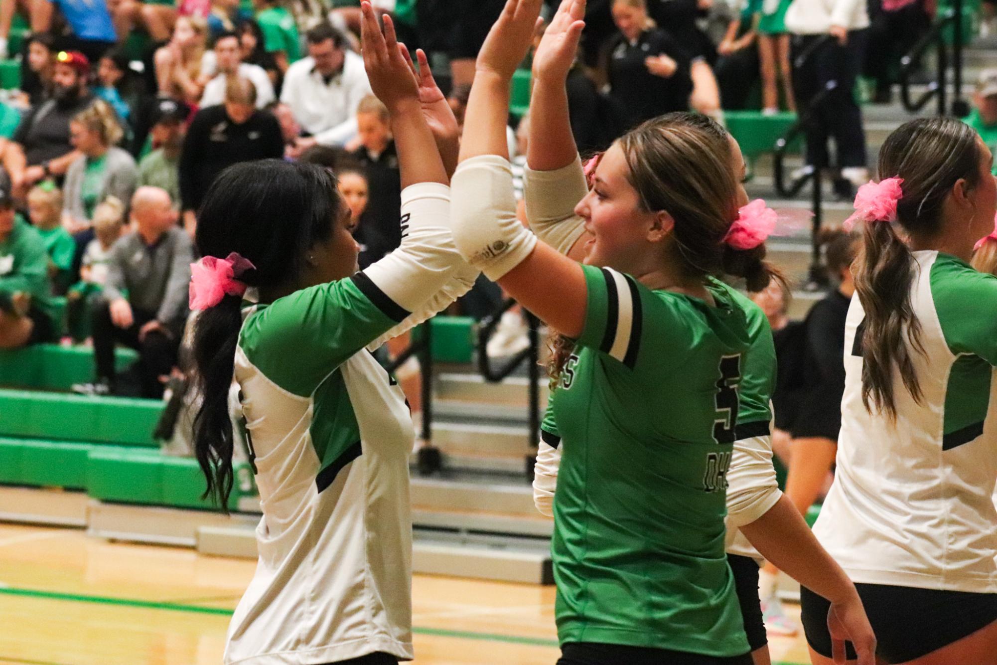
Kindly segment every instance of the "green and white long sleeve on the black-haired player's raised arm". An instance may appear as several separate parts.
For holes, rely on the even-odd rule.
[[[460,290],[453,284],[466,270],[450,234],[449,204],[445,185],[406,187],[401,246],[363,272],[253,314],[240,339],[248,359],[284,390],[308,396],[360,349],[406,321],[428,318],[441,294]]]

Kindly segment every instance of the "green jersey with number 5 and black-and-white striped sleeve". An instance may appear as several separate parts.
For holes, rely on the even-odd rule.
[[[584,331],[552,409],[559,639],[747,653],[724,516],[748,310],[713,280],[715,306],[583,270]]]

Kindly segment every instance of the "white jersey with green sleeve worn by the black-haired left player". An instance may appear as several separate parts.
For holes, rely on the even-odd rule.
[[[402,246],[364,272],[244,310],[229,408],[263,517],[225,663],[413,657],[415,433],[365,347],[446,307],[477,271],[454,248],[446,186],[406,188],[402,213]]]

